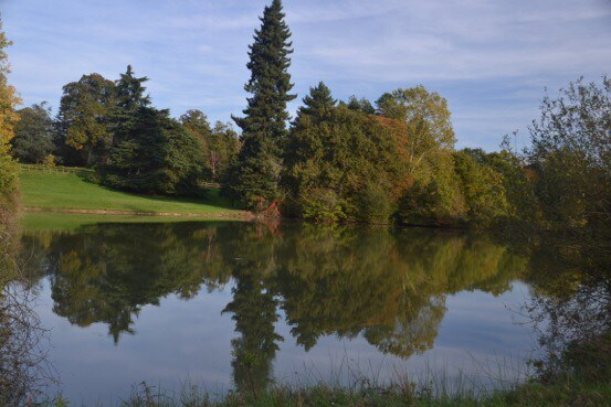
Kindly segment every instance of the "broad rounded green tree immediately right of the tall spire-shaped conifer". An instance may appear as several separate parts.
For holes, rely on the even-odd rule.
[[[304,101],[286,149],[284,175],[298,214],[315,221],[384,222],[391,205],[391,197],[381,192],[390,186],[389,132],[360,111],[334,107],[317,89]]]

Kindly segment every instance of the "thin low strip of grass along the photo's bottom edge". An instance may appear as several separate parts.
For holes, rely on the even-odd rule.
[[[49,407],[69,406],[61,398]],[[609,407],[611,387],[600,383],[528,383],[513,390],[475,396],[468,392],[433,395],[413,385],[362,386],[351,389],[318,385],[303,389],[274,387],[264,393],[232,393],[214,400],[208,393],[187,388],[179,395],[159,393],[140,385],[120,407]]]

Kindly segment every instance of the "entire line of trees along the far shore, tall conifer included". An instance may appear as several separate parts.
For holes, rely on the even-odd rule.
[[[263,216],[609,226],[607,76],[602,86],[580,79],[557,99],[546,96],[524,152],[506,141],[496,152],[456,150],[447,100],[424,86],[343,101],[320,82],[291,118],[291,35],[273,0],[250,45],[247,106],[232,117],[240,136],[199,110],[177,120],[151,107],[148,78],[128,66],[117,81],[91,74],[65,85],[55,118],[44,104],[14,111],[13,99],[4,121],[14,129],[4,132],[14,138],[4,136],[3,159],[10,162],[12,146],[22,162],[91,167],[101,183],[150,194],[196,195],[202,180],[214,180]]]

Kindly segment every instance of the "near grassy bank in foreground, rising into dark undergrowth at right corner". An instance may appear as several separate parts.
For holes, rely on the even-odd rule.
[[[446,381],[434,375],[418,383],[399,375],[392,384],[364,376],[357,385],[318,384],[302,387],[272,384],[257,389],[247,381],[241,390],[213,395],[186,385],[178,394],[143,383],[120,407],[611,407],[611,335],[571,343],[559,360],[528,374],[529,378],[501,379],[496,390],[477,381]],[[556,366],[551,368],[551,366]],[[502,366],[501,366],[502,367]],[[501,372],[499,372],[501,373]],[[355,376],[356,377],[356,376]],[[251,377],[253,378],[253,377]],[[250,384],[249,384],[250,383]],[[65,407],[60,398],[51,404]]]

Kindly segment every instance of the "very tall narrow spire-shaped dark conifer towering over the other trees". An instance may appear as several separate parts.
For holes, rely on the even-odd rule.
[[[293,84],[288,55],[293,50],[284,17],[281,0],[265,8],[246,65],[251,78],[244,89],[252,97],[244,117],[233,117],[242,129],[243,147],[227,176],[224,191],[250,208],[267,206],[281,196],[282,151],[289,119],[286,104],[297,97],[289,94]]]

